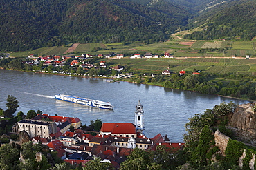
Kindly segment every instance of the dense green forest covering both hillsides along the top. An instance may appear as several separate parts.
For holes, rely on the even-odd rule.
[[[229,0],[3,0],[0,1],[0,50],[25,51],[69,43],[166,41],[194,17],[211,23],[188,39],[250,40],[255,36],[255,1]],[[234,8],[235,2],[240,6]],[[223,5],[225,4],[225,5]],[[229,5],[230,4],[230,5]],[[207,9],[225,9],[219,10]],[[225,8],[224,8],[225,7]],[[203,12],[201,12],[203,11]],[[206,21],[206,18],[204,18]]]

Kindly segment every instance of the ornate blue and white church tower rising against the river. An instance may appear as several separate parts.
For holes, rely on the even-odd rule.
[[[140,100],[138,101],[138,104],[136,105],[136,111],[135,111],[135,126],[136,131],[140,132],[141,134],[144,134],[144,119],[143,119],[143,105],[140,104]]]

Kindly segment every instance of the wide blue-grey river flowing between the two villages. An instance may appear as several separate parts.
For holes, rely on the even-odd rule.
[[[55,100],[55,94],[107,101],[115,108],[109,111]],[[44,114],[77,117],[82,120],[82,125],[89,125],[90,120],[96,119],[103,123],[134,123],[135,107],[140,100],[144,109],[145,136],[152,138],[158,133],[167,134],[171,142],[183,142],[184,125],[194,114],[231,100],[237,104],[248,103],[152,85],[0,70],[0,108],[7,109],[8,95],[19,100],[17,112],[26,114],[32,109]]]

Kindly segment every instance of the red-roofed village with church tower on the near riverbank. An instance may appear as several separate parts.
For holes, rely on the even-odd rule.
[[[147,138],[144,134],[143,105],[136,105],[135,123],[102,123],[96,136],[86,134],[79,118],[38,114],[32,119],[24,119],[12,127],[12,132],[19,134],[26,131],[33,143],[42,142],[57,156],[72,165],[86,164],[94,156],[102,162],[110,162],[113,167],[120,167],[131,151],[138,147],[145,151],[154,151],[158,145],[180,149],[184,143],[172,143],[167,135],[157,134]],[[75,131],[68,131],[71,127]]]

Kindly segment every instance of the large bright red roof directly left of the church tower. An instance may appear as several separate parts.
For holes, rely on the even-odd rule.
[[[133,123],[103,123],[100,131],[111,134],[136,134],[136,127]]]

